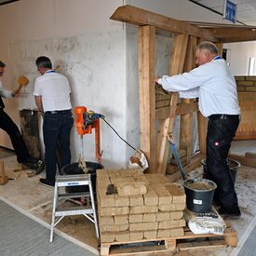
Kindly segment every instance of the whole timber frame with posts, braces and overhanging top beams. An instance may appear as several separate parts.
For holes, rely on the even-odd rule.
[[[178,94],[159,95],[155,103],[155,32],[161,30],[174,34],[172,54],[170,56],[169,74],[180,74],[194,68],[194,47],[197,43],[209,40],[215,42],[222,50],[222,43],[256,40],[256,28],[223,27],[206,28],[209,24],[195,25],[186,21],[174,20],[138,7],[118,7],[111,16],[112,20],[119,20],[139,25],[139,75],[140,75],[140,125],[141,150],[146,154],[150,172],[165,173],[168,161],[167,135],[173,128],[176,115],[182,115],[181,145],[187,150],[187,166],[195,168],[206,153],[207,118],[198,112],[195,101],[178,103]],[[188,40],[189,39],[189,40]],[[189,43],[188,43],[189,42]],[[170,101],[169,105],[167,104]],[[157,106],[157,109],[155,107]],[[192,113],[197,112],[198,137],[200,155],[191,155],[191,134],[184,130],[192,130]],[[155,131],[155,118],[159,129]],[[156,140],[157,139],[157,140]],[[191,164],[190,164],[191,161]],[[250,160],[251,161],[251,160]],[[254,164],[254,162],[253,162]]]

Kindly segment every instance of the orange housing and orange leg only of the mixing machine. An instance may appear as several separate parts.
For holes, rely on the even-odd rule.
[[[91,124],[85,125],[84,114],[88,112],[85,106],[77,106],[74,108],[74,126],[77,133],[82,137],[91,134],[95,129],[95,156],[98,163],[101,164],[101,136],[100,136],[100,119],[95,119]]]

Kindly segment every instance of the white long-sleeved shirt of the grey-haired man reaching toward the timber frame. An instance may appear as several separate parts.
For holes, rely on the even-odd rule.
[[[164,75],[158,83],[165,90],[179,92],[181,98],[198,97],[199,110],[204,116],[240,115],[236,80],[226,62],[220,58],[189,73]]]

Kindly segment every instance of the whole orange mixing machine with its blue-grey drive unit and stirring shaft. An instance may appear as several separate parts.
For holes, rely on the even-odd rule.
[[[92,129],[95,130],[95,156],[98,163],[101,164],[101,137],[100,137],[100,118],[104,115],[88,111],[85,106],[77,106],[74,108],[74,126],[81,140],[81,155],[84,153],[83,136],[91,134]]]

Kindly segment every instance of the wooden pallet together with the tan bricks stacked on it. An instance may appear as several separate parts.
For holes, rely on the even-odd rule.
[[[108,185],[114,185],[117,191],[106,195]],[[168,182],[161,174],[99,169],[97,199],[101,255],[237,244],[236,232],[231,228],[222,236],[194,235],[189,231],[184,220],[185,194],[179,185]]]

